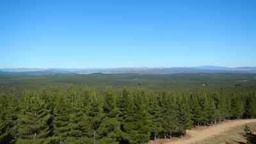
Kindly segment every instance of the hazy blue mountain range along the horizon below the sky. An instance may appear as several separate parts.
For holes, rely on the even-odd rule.
[[[124,67],[124,68],[0,68],[0,74],[177,74],[177,73],[248,73],[256,74],[256,67]]]

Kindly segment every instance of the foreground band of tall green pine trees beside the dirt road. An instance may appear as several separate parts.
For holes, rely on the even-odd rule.
[[[10,91],[10,92],[8,92]],[[69,86],[1,89],[0,143],[144,144],[186,136],[186,129],[256,118],[254,87],[189,92],[123,88],[103,94]]]

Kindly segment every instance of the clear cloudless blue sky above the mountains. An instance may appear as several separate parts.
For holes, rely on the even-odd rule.
[[[256,1],[0,0],[0,68],[256,66]]]

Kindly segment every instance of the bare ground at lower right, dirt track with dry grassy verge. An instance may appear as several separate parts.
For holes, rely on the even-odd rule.
[[[182,138],[160,139],[148,144],[213,144],[213,143],[244,143],[244,125],[256,122],[256,119],[230,120],[221,124],[207,127],[193,128],[186,131]]]

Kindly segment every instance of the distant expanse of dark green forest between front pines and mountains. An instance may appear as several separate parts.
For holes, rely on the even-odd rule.
[[[67,92],[69,84],[74,88],[88,86],[100,94],[107,86],[113,92],[119,92],[124,86],[129,90],[147,88],[150,90],[184,92],[194,90],[214,90],[253,86],[256,88],[256,74],[231,73],[193,73],[193,74],[0,74],[0,86],[9,90],[13,86],[21,95],[24,90],[38,91],[42,87],[58,87],[60,92]],[[207,84],[207,85],[204,85]]]

